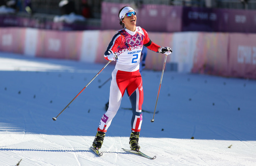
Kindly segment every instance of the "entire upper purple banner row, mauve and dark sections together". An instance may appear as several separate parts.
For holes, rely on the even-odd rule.
[[[119,10],[130,4],[102,3],[102,29],[121,29]],[[168,5],[130,5],[137,12],[137,26],[147,31],[246,32],[256,33],[256,11],[182,7]]]

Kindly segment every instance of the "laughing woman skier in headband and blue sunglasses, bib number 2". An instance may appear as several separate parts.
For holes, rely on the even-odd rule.
[[[139,72],[140,56],[143,45],[148,49],[169,55],[169,47],[160,47],[153,43],[140,26],[136,26],[136,11],[132,7],[124,6],[119,11],[120,25],[124,28],[114,35],[104,53],[106,60],[117,60],[112,72],[112,81],[109,93],[109,107],[102,116],[97,134],[92,143],[94,149],[100,149],[105,133],[116,115],[121,104],[125,90],[132,104],[132,133],[130,135],[130,148],[139,151],[139,132],[142,125],[143,88],[142,77]]]

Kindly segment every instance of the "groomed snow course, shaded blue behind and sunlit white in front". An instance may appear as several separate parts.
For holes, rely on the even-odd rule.
[[[107,62],[106,62],[107,63]],[[154,160],[129,148],[132,111],[127,94],[96,156],[109,64],[0,53],[0,166],[255,166],[256,81],[165,71],[154,123],[143,113],[139,143]],[[142,72],[143,109],[154,111],[161,71]],[[194,139],[191,139],[194,137]],[[230,147],[230,148],[229,148]]]

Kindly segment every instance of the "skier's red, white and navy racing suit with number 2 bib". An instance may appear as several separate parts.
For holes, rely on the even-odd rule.
[[[137,26],[134,32],[128,29],[119,30],[109,43],[107,51],[104,53],[104,58],[109,60],[107,55],[117,53],[118,60],[112,72],[109,108],[100,120],[98,131],[107,132],[112,119],[119,109],[125,90],[127,90],[132,104],[132,132],[140,131],[142,125],[143,87],[139,63],[143,45],[155,52],[159,48],[157,44],[149,39],[147,31],[140,26]]]

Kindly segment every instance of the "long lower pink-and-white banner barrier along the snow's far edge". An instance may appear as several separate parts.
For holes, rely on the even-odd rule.
[[[0,28],[0,51],[27,56],[106,63],[104,52],[117,31],[53,31]],[[167,68],[256,79],[256,34],[149,32],[159,46],[169,46]],[[164,55],[148,50],[146,69],[162,70]],[[111,63],[114,65],[115,62]],[[169,66],[168,66],[169,65]],[[175,69],[174,69],[175,68]]]

